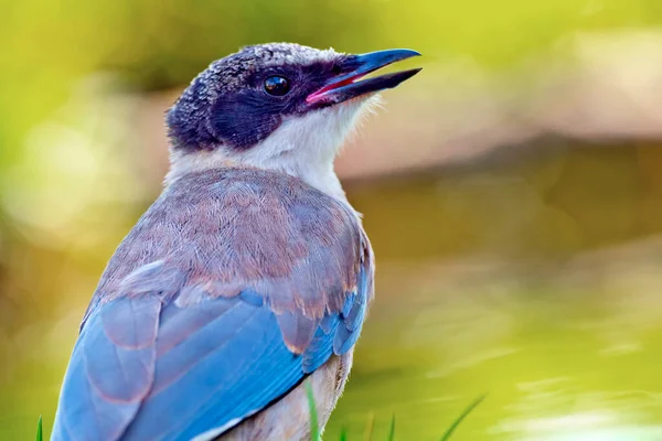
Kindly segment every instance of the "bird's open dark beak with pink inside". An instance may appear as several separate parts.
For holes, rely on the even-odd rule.
[[[420,68],[360,79],[384,66],[418,55],[420,55],[418,52],[408,49],[350,55],[342,63],[343,74],[333,77],[322,88],[310,94],[306,101],[308,104],[339,104],[362,95],[394,88],[419,73]]]

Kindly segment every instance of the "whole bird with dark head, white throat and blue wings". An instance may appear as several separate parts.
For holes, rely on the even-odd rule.
[[[52,441],[305,440],[339,399],[374,256],[333,168],[413,50],[242,47],[166,112],[160,196],[109,259]]]

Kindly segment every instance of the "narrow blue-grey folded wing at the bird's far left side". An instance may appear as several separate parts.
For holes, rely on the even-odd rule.
[[[157,298],[99,308],[81,333],[67,368],[53,440],[114,440],[149,394],[154,376]]]

